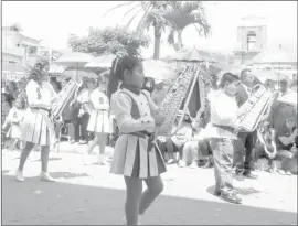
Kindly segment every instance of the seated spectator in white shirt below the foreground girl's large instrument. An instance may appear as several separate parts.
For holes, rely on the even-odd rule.
[[[181,117],[181,116],[180,116]],[[173,132],[177,130],[177,127],[179,126],[179,118],[175,120],[175,126],[173,127]],[[184,116],[184,120],[181,125],[181,128],[177,131],[174,136],[166,140],[166,154],[164,158],[168,164],[172,164],[174,162],[178,162],[180,159],[182,159],[182,150],[184,144],[190,141],[192,138],[192,127],[191,127],[191,119],[188,115]],[[178,155],[179,157],[178,157]]]

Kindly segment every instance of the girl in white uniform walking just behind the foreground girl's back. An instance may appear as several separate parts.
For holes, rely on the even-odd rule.
[[[99,144],[98,164],[106,165],[105,148],[107,144],[108,134],[111,132],[111,122],[109,119],[109,104],[105,94],[105,87],[97,82],[97,87],[89,95],[91,118],[87,130],[94,132],[94,140],[89,142],[87,154],[91,154],[96,144]],[[85,163],[88,164],[88,158]]]

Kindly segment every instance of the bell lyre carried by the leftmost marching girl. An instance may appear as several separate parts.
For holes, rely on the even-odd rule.
[[[82,85],[81,83],[76,83],[74,80],[70,80],[65,87],[58,93],[57,99],[52,105],[51,118],[55,121],[64,110],[65,106],[70,104],[73,99],[73,96],[76,95],[78,87]]]

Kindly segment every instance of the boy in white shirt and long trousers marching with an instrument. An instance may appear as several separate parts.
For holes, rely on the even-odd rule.
[[[233,190],[232,174],[234,143],[237,141],[234,130],[240,128],[235,98],[237,83],[236,75],[225,73],[222,76],[220,89],[209,96],[211,123],[207,127],[214,158],[214,194],[235,204],[242,201]]]

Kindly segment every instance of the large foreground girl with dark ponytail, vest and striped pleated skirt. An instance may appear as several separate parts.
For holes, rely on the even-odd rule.
[[[114,60],[108,97],[120,136],[115,146],[110,172],[125,179],[126,225],[137,225],[139,216],[162,192],[160,174],[166,172],[161,153],[150,139],[156,125],[164,121],[164,116],[157,114],[149,93],[141,90],[142,83],[143,67],[139,60],[130,56]],[[147,184],[145,192],[142,181]]]

